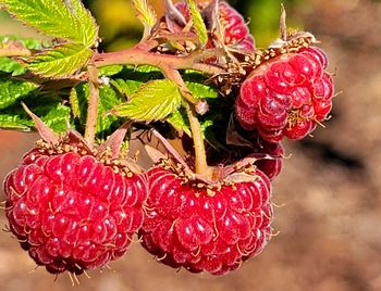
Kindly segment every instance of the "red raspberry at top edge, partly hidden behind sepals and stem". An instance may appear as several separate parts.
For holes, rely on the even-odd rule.
[[[199,3],[199,8],[206,8],[206,3]],[[186,2],[175,3],[175,8],[183,14],[186,22],[192,18],[190,11]],[[226,2],[219,2],[220,24],[223,28],[223,42],[226,46],[233,46],[236,49],[248,51],[255,50],[254,37],[245,23],[244,17]],[[209,40],[209,47],[213,47],[212,39]]]

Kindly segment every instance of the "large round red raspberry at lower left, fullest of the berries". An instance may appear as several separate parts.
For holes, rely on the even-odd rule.
[[[5,214],[48,271],[81,274],[122,256],[143,222],[140,176],[81,146],[40,142],[5,178]]]

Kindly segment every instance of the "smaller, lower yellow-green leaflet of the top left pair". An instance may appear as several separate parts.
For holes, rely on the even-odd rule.
[[[44,77],[65,77],[82,68],[93,50],[78,43],[66,43],[37,54],[28,60],[27,67]]]

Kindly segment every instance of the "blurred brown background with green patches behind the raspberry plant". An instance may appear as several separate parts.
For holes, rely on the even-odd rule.
[[[128,0],[87,1],[102,27],[103,47],[138,37]],[[161,1],[150,1],[157,8]],[[90,271],[81,286],[54,280],[0,233],[2,291],[45,290],[381,290],[381,2],[284,1],[288,23],[314,31],[336,73],[333,117],[304,142],[287,142],[291,156],[273,185],[274,228],[263,253],[224,276],[192,275],[156,263],[137,243],[112,270]],[[232,1],[251,18],[259,46],[275,37],[279,1]],[[0,17],[0,34],[30,33]],[[128,40],[130,39],[130,40]],[[17,165],[36,135],[0,131],[0,178]],[[3,193],[0,193],[3,199]],[[5,225],[0,214],[0,224]]]

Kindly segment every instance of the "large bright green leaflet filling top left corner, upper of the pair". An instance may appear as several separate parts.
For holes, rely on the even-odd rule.
[[[98,27],[79,0],[0,0],[0,4],[14,17],[46,35],[85,47],[98,40]]]

